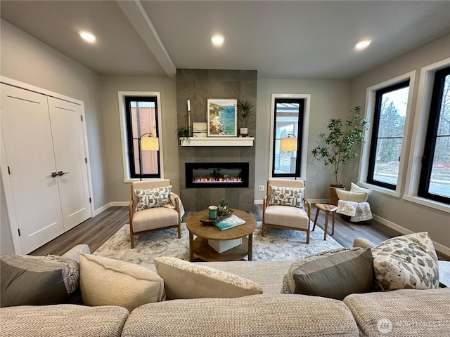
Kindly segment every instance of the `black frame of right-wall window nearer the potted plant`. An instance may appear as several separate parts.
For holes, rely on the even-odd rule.
[[[379,180],[375,180],[373,178],[373,174],[375,171],[375,157],[376,157],[376,150],[377,150],[377,146],[378,146],[378,140],[380,138],[378,138],[378,132],[380,130],[380,114],[381,114],[381,105],[383,104],[382,100],[383,100],[383,95],[385,93],[390,93],[392,91],[396,91],[399,90],[401,88],[409,88],[409,91],[411,91],[411,84],[409,79],[406,79],[405,81],[401,81],[399,83],[396,84],[391,84],[390,86],[385,86],[384,88],[379,88],[377,91],[375,91],[375,107],[373,110],[373,125],[372,125],[372,133],[371,133],[371,147],[370,147],[370,151],[368,154],[368,172],[367,172],[367,178],[366,181],[369,184],[372,185],[378,185],[380,187],[384,187],[387,188],[389,190],[396,190],[397,189],[397,185],[399,184],[399,176],[400,176],[400,168],[399,168],[399,173],[397,175],[397,184],[390,184],[390,183],[385,183],[383,181],[379,181]],[[408,93],[409,95],[409,93]],[[401,160],[401,157],[403,157],[401,154],[403,154],[403,147],[404,147],[404,143],[405,143],[405,133],[406,133],[406,117],[405,117],[405,124],[404,124],[404,128],[403,128],[403,135],[401,136],[401,152],[400,152],[400,158],[399,161]],[[392,137],[393,138],[400,138],[400,137]]]

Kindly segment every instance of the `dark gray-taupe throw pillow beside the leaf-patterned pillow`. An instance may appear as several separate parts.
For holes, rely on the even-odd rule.
[[[301,293],[342,300],[373,288],[370,249],[345,248],[298,260],[283,279],[283,293]]]

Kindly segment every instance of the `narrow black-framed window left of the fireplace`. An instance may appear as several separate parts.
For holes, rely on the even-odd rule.
[[[125,96],[130,178],[161,178],[159,150],[141,148],[141,137],[158,138],[156,96]],[[144,136],[143,136],[144,135]],[[141,143],[142,144],[142,143]],[[141,153],[139,153],[141,149]],[[141,172],[142,167],[142,172]]]

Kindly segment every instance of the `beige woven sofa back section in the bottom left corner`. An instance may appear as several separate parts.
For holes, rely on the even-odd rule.
[[[59,304],[1,308],[0,331],[2,337],[120,337],[128,315],[127,309],[110,306]]]

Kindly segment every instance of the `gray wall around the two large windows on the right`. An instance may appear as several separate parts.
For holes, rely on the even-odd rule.
[[[418,84],[420,81],[420,69],[444,58],[450,57],[450,35],[442,37],[430,44],[422,46],[415,51],[396,58],[356,77],[351,82],[350,105],[364,106],[366,103],[366,88],[380,84],[406,72],[416,70],[416,80],[413,90],[413,103],[411,114],[416,114],[418,98]],[[413,123],[410,123],[409,138],[406,138],[407,149],[410,149]],[[409,156],[409,152],[406,152]],[[407,161],[406,161],[407,162]],[[405,168],[406,169],[406,168]],[[404,172],[406,176],[406,171]],[[356,179],[356,176],[354,176]],[[401,191],[403,194],[404,191]],[[380,218],[387,222],[403,227],[407,231],[428,231],[432,240],[442,244],[450,250],[450,216],[449,213],[438,211],[427,206],[405,201],[404,199],[391,197],[387,194],[373,192],[370,197],[371,208]]]

